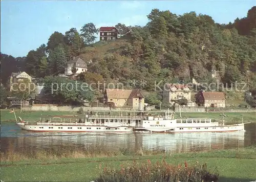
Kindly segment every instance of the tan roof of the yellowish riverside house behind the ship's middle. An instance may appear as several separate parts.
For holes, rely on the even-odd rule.
[[[106,96],[108,98],[113,99],[128,99],[128,98],[134,98],[136,94],[140,92],[139,89],[133,89],[133,90],[126,90],[126,89],[111,89],[106,88]],[[143,97],[143,95],[140,93],[140,95]]]

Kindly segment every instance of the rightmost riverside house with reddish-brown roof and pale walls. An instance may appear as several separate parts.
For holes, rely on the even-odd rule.
[[[225,94],[223,92],[202,92],[197,94],[199,106],[203,107],[225,107]]]

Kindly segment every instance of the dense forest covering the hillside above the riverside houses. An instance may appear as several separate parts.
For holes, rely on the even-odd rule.
[[[95,74],[87,78],[97,76],[124,84],[137,80],[136,87],[145,81],[143,89],[148,91],[154,90],[155,81],[191,82],[195,78],[201,83],[212,82],[212,71],[219,71],[227,85],[246,81],[256,89],[255,6],[246,17],[227,25],[195,12],[176,15],[153,9],[147,18],[144,27],[116,25],[125,34],[117,40],[94,43],[98,29],[89,23],[79,31],[54,32],[47,44],[29,51],[26,57],[1,54],[1,81],[5,84],[11,72],[19,70],[37,78],[61,73],[68,60],[80,56],[88,71]]]

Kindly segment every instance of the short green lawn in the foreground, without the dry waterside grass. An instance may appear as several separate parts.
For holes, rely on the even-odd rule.
[[[1,179],[4,181],[90,181],[95,180],[106,165],[120,169],[120,165],[152,163],[164,160],[173,165],[206,163],[212,172],[217,169],[220,181],[250,181],[256,179],[256,146],[237,150],[202,153],[149,153],[147,155],[118,155],[108,157],[44,158],[10,162],[1,160]],[[76,155],[77,156],[77,155]],[[101,169],[100,169],[101,166]],[[14,175],[15,174],[15,175]]]

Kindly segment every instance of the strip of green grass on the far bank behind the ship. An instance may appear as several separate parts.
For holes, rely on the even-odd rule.
[[[133,113],[133,112],[132,112]],[[160,111],[153,111],[153,114],[160,114]],[[98,115],[102,114],[102,111],[98,111]],[[104,112],[108,115],[108,111]],[[123,112],[125,114],[125,112]],[[226,112],[225,117],[226,124],[240,123],[242,118],[244,122],[256,123],[256,112]],[[17,117],[20,117],[26,121],[38,121],[42,116],[54,116],[54,115],[77,115],[77,112],[64,112],[64,111],[23,111],[22,113],[16,111]],[[119,115],[118,111],[113,111],[112,115]],[[83,115],[84,116],[84,115]],[[183,112],[181,113],[182,118],[211,118],[217,121],[222,121],[222,117],[219,112]],[[179,113],[176,113],[176,118],[179,118]],[[9,110],[1,110],[1,121],[14,121],[13,113]]]

